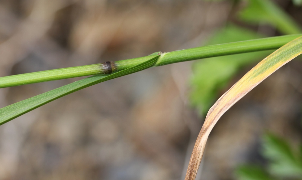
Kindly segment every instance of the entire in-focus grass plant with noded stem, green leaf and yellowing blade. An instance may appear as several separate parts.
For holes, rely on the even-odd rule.
[[[219,118],[223,115],[223,113],[226,112],[226,110],[233,106],[234,103],[246,95],[246,93],[252,90],[260,82],[262,82],[262,80],[287,62],[291,61],[294,57],[302,54],[301,35],[302,34],[296,34],[249,41],[239,41],[196,47],[180,51],[172,51],[168,53],[156,52],[146,57],[116,62],[105,62],[102,64],[1,77],[0,87],[11,87],[22,84],[96,74],[94,76],[70,83],[63,87],[56,88],[46,93],[42,93],[40,95],[1,108],[0,125],[72,92],[106,80],[132,74],[149,67],[207,57],[272,50],[280,47],[274,53],[257,64],[245,76],[243,76],[233,87],[230,88],[230,90],[220,97],[220,99],[209,110],[205,123],[194,146],[185,178],[185,180],[194,180],[201,162],[207,138]]]

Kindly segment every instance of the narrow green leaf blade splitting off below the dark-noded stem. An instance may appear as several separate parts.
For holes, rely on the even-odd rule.
[[[142,57],[141,63],[127,68],[125,70],[121,70],[119,72],[110,74],[110,75],[95,75],[92,77],[88,77],[74,83],[70,83],[63,87],[56,88],[54,90],[48,91],[46,93],[31,97],[29,99],[20,101],[18,103],[14,103],[12,105],[3,107],[0,109],[0,125],[7,123],[8,121],[21,116],[31,110],[36,109],[46,103],[49,103],[53,100],[58,99],[59,97],[63,97],[72,92],[84,89],[85,87],[92,86],[97,83],[101,83],[106,80],[114,79],[117,77],[125,76],[127,74],[135,73],[140,70],[144,70],[146,68],[154,66],[158,59],[159,55],[152,55]]]

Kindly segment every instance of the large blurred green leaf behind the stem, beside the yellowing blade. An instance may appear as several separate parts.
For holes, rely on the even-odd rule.
[[[214,34],[207,45],[255,38],[262,38],[262,36],[245,28],[228,25],[223,30]],[[264,51],[213,57],[194,62],[190,94],[192,105],[196,106],[200,113],[206,113],[217,97],[218,91],[227,85],[240,67],[250,64],[251,62],[259,61],[261,57],[265,57],[269,52]]]

